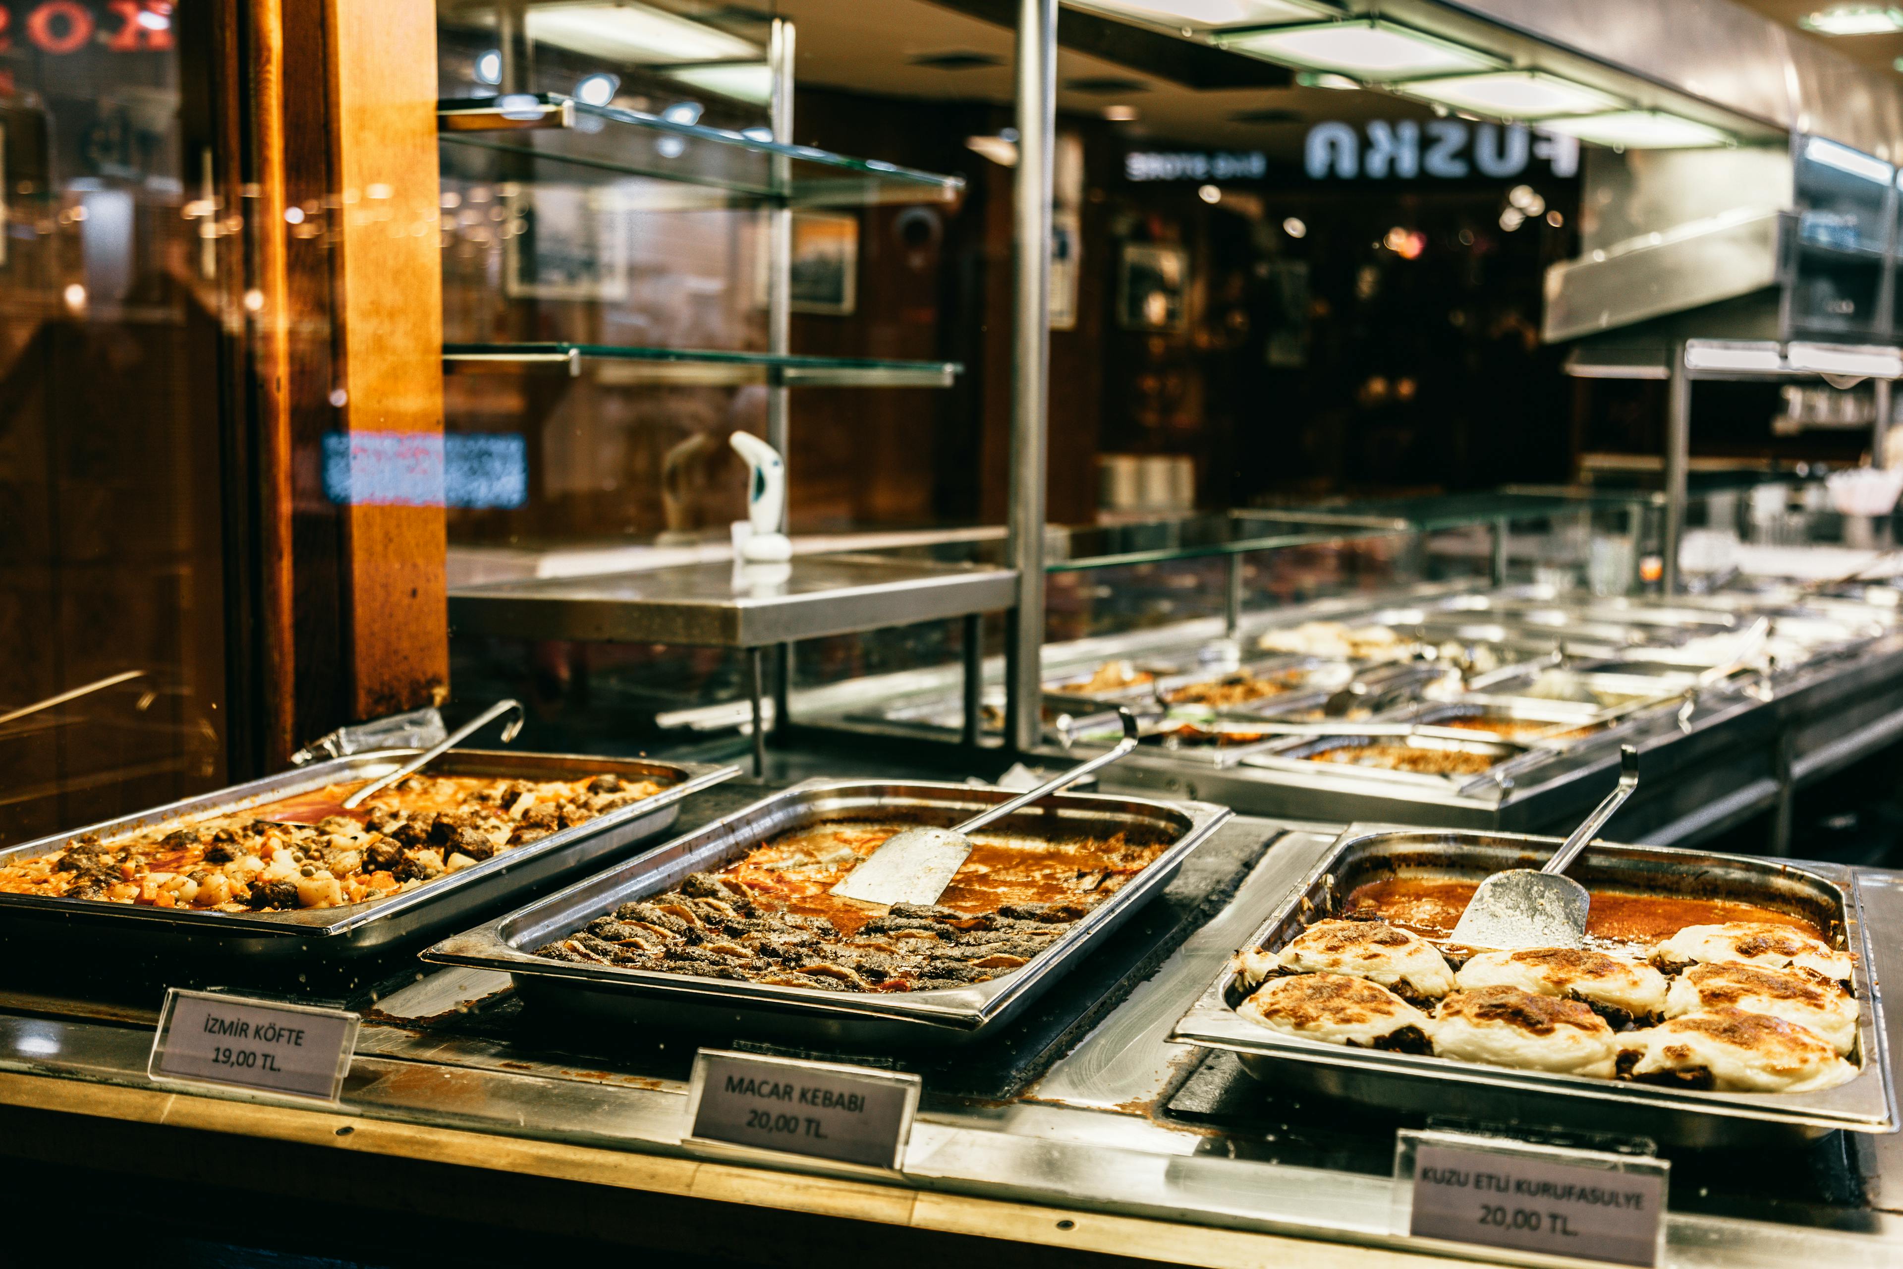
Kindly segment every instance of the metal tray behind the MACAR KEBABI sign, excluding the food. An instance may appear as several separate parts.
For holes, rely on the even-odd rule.
[[[963,784],[809,780],[499,921],[443,940],[426,949],[422,959],[502,970],[514,978],[516,989],[525,999],[620,1024],[784,1037],[845,1050],[969,1043],[1016,1016],[1144,902],[1161,894],[1189,852],[1207,841],[1231,810],[1208,803],[1058,793],[993,824],[991,831],[1052,839],[1090,831],[1108,835],[1134,828],[1163,831],[1170,837],[1170,845],[1026,966],[971,987],[893,993],[820,991],[613,965],[575,965],[539,957],[533,949],[573,934],[622,904],[670,890],[689,873],[725,868],[788,830],[822,820],[868,818],[950,826],[1010,797],[1014,793],[1009,790]]]

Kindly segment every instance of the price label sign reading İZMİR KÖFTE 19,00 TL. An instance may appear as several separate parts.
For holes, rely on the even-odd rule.
[[[335,1102],[356,1031],[358,1016],[339,1008],[173,987],[147,1075]]]

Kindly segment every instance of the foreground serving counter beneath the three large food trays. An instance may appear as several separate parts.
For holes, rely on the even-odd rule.
[[[702,793],[681,826],[729,814],[754,795],[757,788]],[[1121,982],[1106,993],[1100,980],[1085,980],[1079,991],[1115,1006],[1081,1014],[1089,1027],[1062,1035],[1022,1086],[972,1096],[957,1067],[900,1060],[927,1073],[898,1174],[868,1178],[683,1142],[683,1054],[655,1037],[550,1035],[514,1001],[508,976],[472,968],[426,972],[377,1001],[343,1102],[329,1111],[160,1092],[147,1079],[150,1001],[8,989],[0,1132],[21,1149],[11,1117],[32,1107],[69,1111],[63,1123],[177,1124],[196,1134],[198,1153],[213,1151],[206,1140],[274,1138],[466,1162],[523,1185],[561,1178],[1052,1250],[1212,1265],[1448,1263],[1389,1233],[1397,1119],[1304,1105],[1254,1084],[1224,1054],[1167,1041],[1334,831],[1235,818],[1205,841],[1174,885],[1193,900],[1241,862],[1233,894],[1205,909],[1189,902],[1182,911],[1193,921],[1146,909],[1132,927],[1149,928],[1132,930],[1132,946],[1172,919],[1187,936],[1159,963],[1098,957]],[[1863,869],[1859,881],[1876,946],[1869,968],[1897,980],[1903,873]],[[1886,1027],[1888,1044],[1903,1044],[1893,1014]],[[1831,1134],[1802,1159],[1789,1149],[1777,1159],[1781,1166],[1764,1168],[1749,1151],[1673,1153],[1663,1263],[1874,1269],[1903,1259],[1903,1140]],[[540,1191],[525,1189],[521,1202],[529,1193]]]

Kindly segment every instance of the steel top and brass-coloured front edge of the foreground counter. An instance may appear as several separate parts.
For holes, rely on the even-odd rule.
[[[679,1140],[685,1090],[677,1083],[599,1058],[550,1062],[506,1039],[432,1033],[430,1018],[455,1016],[506,982],[481,970],[445,970],[384,1001],[386,1014],[413,1025],[371,1020],[363,1027],[343,1107],[333,1113],[150,1092],[148,1024],[13,1001],[0,1012],[0,1124],[11,1124],[13,1107],[23,1105],[72,1111],[61,1123],[164,1119],[211,1134],[335,1147],[346,1159],[341,1166],[354,1164],[352,1151],[470,1161],[529,1174],[537,1189],[525,1193],[539,1199],[548,1195],[540,1178],[563,1178],[870,1221],[858,1239],[906,1225],[1178,1263],[1458,1263],[1416,1258],[1387,1233],[1391,1181],[1378,1168],[1304,1153],[1300,1132],[1273,1123],[1170,1113],[1186,1081],[1208,1069],[1195,1050],[1167,1043],[1170,1025],[1336,833],[1269,820],[1231,826],[1285,835],[1233,900],[1024,1096],[974,1103],[932,1098],[927,1088],[904,1172],[885,1181],[820,1164],[729,1166],[738,1161]],[[1865,871],[1863,885],[1878,932],[1874,972],[1895,978],[1903,974],[1903,940],[1895,938],[1903,873]],[[1890,1043],[1903,1043],[1903,1024],[1893,1014],[1886,1022]],[[1861,1174],[1865,1191],[1854,1204],[1728,1199],[1703,1193],[1686,1172],[1667,1223],[1667,1263],[1899,1263],[1903,1138],[1852,1149],[1846,1166]]]

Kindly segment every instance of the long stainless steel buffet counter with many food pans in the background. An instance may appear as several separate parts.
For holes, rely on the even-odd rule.
[[[1726,668],[1720,664],[1726,649],[1743,647],[1760,615],[1768,615],[1764,622],[1770,637],[1758,632],[1749,664],[1732,674],[1717,674]],[[1404,643],[1439,651],[1441,666],[1450,664],[1448,654],[1463,656],[1475,649],[1505,664],[1488,662],[1479,672],[1469,670],[1460,691],[1441,696],[1431,687],[1422,691],[1420,681],[1408,691],[1385,691],[1370,677],[1370,689],[1382,689],[1370,696],[1376,706],[1372,721],[1435,723],[1431,710],[1444,702],[1477,702],[1475,710],[1484,706],[1498,712],[1517,708],[1528,719],[1538,715],[1551,723],[1549,734],[1564,731],[1562,710],[1568,706],[1585,710],[1578,715],[1581,723],[1593,717],[1614,721],[1593,723],[1604,729],[1602,734],[1578,742],[1538,740],[1532,748],[1553,750],[1547,755],[1515,753],[1522,746],[1513,744],[1513,736],[1505,732],[1475,732],[1463,742],[1444,734],[1429,738],[1442,748],[1498,748],[1505,761],[1469,778],[1304,761],[1307,753],[1302,736],[1264,736],[1256,744],[1229,748],[1193,748],[1187,740],[1167,742],[1176,748],[1146,746],[1106,772],[1106,784],[1132,793],[1214,801],[1267,816],[1568,831],[1612,788],[1618,742],[1625,742],[1640,750],[1644,776],[1638,793],[1612,822],[1612,837],[1696,845],[1760,820],[1760,849],[1787,854],[1795,791],[1903,738],[1903,628],[1893,616],[1895,609],[1854,597],[1798,594],[1724,592],[1667,607],[1659,601],[1606,599],[1559,603],[1524,588],[1422,586],[1281,609],[1273,626],[1258,622],[1233,637],[1214,620],[1182,622],[1049,645],[1045,708],[1050,725],[1039,755],[1056,763],[1068,752],[1092,744],[1090,713],[1108,710],[1113,700],[1128,702],[1148,693],[1149,700],[1159,702],[1159,710],[1165,708],[1167,685],[1184,681],[1186,668],[1201,664],[1205,677],[1220,675],[1224,666],[1273,672],[1271,664],[1252,664],[1269,654],[1260,643],[1265,634],[1292,634],[1324,624],[1340,628],[1334,632],[1338,635],[1344,630],[1378,626],[1403,634]],[[1833,639],[1829,628],[1838,624],[1854,628],[1855,637]],[[1789,635],[1783,634],[1787,628]],[[1296,639],[1271,637],[1269,643],[1302,647]],[[1248,710],[1269,725],[1283,721],[1321,727],[1336,740],[1353,738],[1351,719],[1324,719],[1323,704],[1349,675],[1359,683],[1370,668],[1395,670],[1382,656],[1404,656],[1404,643],[1393,651],[1372,649],[1374,656],[1368,647],[1336,649],[1334,660],[1342,668],[1338,681],[1330,685],[1323,679],[1315,691],[1298,685],[1300,691],[1269,696]],[[1222,656],[1229,660],[1224,662]],[[1285,651],[1285,660],[1290,656],[1294,653]],[[1149,677],[1123,693],[1083,694],[1068,687],[1089,679],[1092,670],[1123,664]],[[1587,704],[1536,700],[1540,693],[1528,689],[1526,681],[1549,670],[1597,685],[1597,698]],[[1699,681],[1701,672],[1709,681]],[[940,715],[953,693],[955,681],[948,672],[915,672],[813,693],[811,700],[795,700],[794,712],[801,721],[826,729],[946,738],[952,732]],[[1625,708],[1644,704],[1646,693],[1659,694],[1648,710],[1619,715],[1621,702]],[[1684,698],[1673,698],[1673,693],[1692,693],[1696,700],[1686,704]],[[1553,712],[1555,708],[1560,712]],[[1157,727],[1174,727],[1178,713],[1170,708]],[[1241,731],[1248,738],[1246,710],[1220,708],[1214,717],[1220,727]],[[1366,719],[1368,713],[1355,717]],[[1071,742],[1069,748],[1064,740]],[[1313,738],[1305,744],[1326,748]]]

